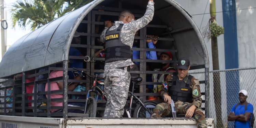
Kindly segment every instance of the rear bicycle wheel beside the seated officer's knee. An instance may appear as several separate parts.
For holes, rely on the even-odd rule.
[[[156,107],[157,102],[155,101],[146,101],[145,103],[145,107],[151,111],[151,113],[153,112],[153,109]],[[151,114],[146,111],[146,109],[144,108],[144,106],[142,104],[138,104],[134,110],[133,113],[133,118],[150,118]]]

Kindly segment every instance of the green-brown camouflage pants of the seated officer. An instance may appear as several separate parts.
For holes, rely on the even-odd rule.
[[[191,103],[182,102],[178,100],[177,102],[174,103],[174,105],[175,105],[177,114],[186,114],[187,109],[191,106]],[[172,114],[172,110],[170,105],[168,105],[168,103],[163,102],[156,105],[156,108],[153,110],[153,114],[151,118],[160,118],[160,117],[165,117],[171,114]],[[198,128],[207,128],[206,120],[204,118],[204,114],[201,109],[196,108],[193,116],[196,119]]]

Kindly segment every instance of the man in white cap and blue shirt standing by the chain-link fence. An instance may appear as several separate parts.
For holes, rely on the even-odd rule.
[[[239,104],[234,104],[228,114],[228,121],[235,120],[234,128],[251,128],[250,120],[253,114],[253,105],[246,102],[247,91],[239,91]],[[245,110],[245,105],[247,108]]]

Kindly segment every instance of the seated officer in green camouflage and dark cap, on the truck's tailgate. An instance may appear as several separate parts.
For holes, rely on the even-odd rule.
[[[197,127],[207,128],[203,111],[199,108],[202,104],[199,81],[188,74],[189,68],[190,62],[187,58],[178,60],[178,73],[169,74],[162,86],[161,97],[165,102],[156,105],[151,117],[160,118],[170,115],[170,104],[173,99],[177,114],[186,114],[187,118],[194,115]]]

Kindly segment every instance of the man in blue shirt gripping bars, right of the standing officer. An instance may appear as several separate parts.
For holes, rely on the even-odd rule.
[[[139,36],[139,32],[137,31],[135,36]],[[159,38],[156,35],[146,35],[148,40],[146,40],[147,42],[147,48],[156,48],[155,44],[157,43],[157,39]],[[153,38],[153,40],[151,40],[151,38]],[[138,46],[140,45],[139,40],[138,39],[134,39],[133,41],[133,46],[134,48],[138,48]],[[140,51],[132,51],[133,53],[133,59],[140,59]],[[156,51],[146,51],[146,59],[154,59],[157,60],[157,56],[156,56]],[[140,66],[140,62],[135,62],[138,66]]]

